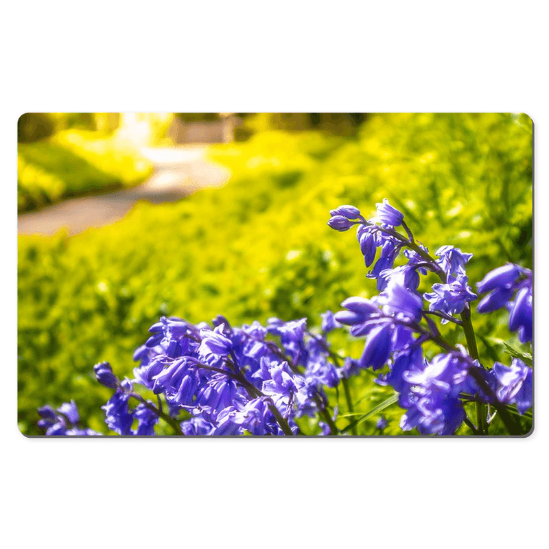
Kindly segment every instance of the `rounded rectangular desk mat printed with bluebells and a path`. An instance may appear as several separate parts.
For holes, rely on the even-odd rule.
[[[533,122],[26,113],[25,436],[528,436]]]

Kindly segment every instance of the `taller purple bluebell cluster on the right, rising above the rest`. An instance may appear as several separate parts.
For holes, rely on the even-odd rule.
[[[435,256],[414,237],[404,216],[388,200],[377,204],[377,215],[366,221],[354,207],[332,210],[332,229],[347,231],[358,225],[357,237],[366,266],[371,266],[379,248],[379,258],[367,276],[377,279],[379,295],[372,299],[351,297],[343,301],[345,310],[336,320],[350,327],[353,336],[366,336],[360,368],[373,371],[386,367],[377,382],[392,386],[399,393],[399,405],[406,410],[402,430],[417,428],[421,434],[453,434],[465,421],[464,402],[517,404],[519,414],[532,405],[532,371],[514,358],[510,369],[496,363],[484,369],[476,358],[461,348],[450,348],[430,318],[441,324],[463,325],[469,318],[469,303],[478,299],[465,266],[472,254],[454,246],[442,246]],[[335,220],[335,222],[334,222]],[[345,220],[346,222],[344,222]],[[406,237],[395,231],[404,226]],[[395,268],[401,250],[408,260]],[[439,275],[432,292],[421,295],[419,275],[428,271]],[[478,304],[478,312],[509,307],[509,328],[519,331],[521,342],[532,340],[532,273],[513,264],[495,269],[477,285],[478,292],[489,292]],[[515,295],[515,300],[511,298]],[[423,301],[429,306],[423,309]],[[464,314],[463,318],[456,315]],[[420,324],[425,320],[427,326]],[[426,360],[421,345],[433,340],[447,347],[445,352]]]

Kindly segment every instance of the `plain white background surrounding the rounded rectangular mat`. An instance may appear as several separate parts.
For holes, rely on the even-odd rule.
[[[0,516],[10,546],[543,544],[545,10],[536,1],[379,5],[3,8]],[[528,113],[536,137],[535,432],[519,440],[25,439],[16,426],[16,121],[29,111]]]

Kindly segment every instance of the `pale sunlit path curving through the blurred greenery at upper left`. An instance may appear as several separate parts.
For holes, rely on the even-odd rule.
[[[69,235],[119,220],[138,200],[153,204],[174,202],[205,187],[220,187],[231,172],[208,161],[207,145],[177,145],[169,148],[141,148],[154,165],[154,173],[139,187],[108,194],[65,200],[43,210],[17,218],[19,234],[53,235],[63,227]]]

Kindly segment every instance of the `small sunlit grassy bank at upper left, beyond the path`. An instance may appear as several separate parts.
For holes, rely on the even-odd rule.
[[[121,139],[72,129],[19,143],[17,172],[17,209],[23,212],[69,196],[138,185],[152,165]]]

